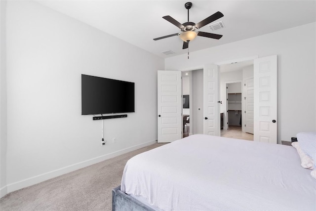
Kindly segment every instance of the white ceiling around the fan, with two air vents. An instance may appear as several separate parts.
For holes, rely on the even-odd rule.
[[[37,0],[41,4],[152,52],[162,58],[187,53],[183,41],[174,36],[158,41],[154,38],[181,32],[164,20],[170,15],[187,22],[183,0]],[[212,31],[208,25],[197,31],[221,34],[220,40],[197,37],[190,42],[190,52],[236,42],[316,21],[315,0],[197,0],[190,9],[190,22],[198,23],[220,11],[225,28]],[[171,50],[175,54],[165,55]]]

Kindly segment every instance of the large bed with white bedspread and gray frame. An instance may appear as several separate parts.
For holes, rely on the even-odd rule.
[[[131,158],[113,211],[316,210],[292,146],[192,135]]]

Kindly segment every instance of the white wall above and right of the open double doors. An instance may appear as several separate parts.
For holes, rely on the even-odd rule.
[[[222,39],[225,39],[223,37]],[[192,42],[192,44],[194,44]],[[165,59],[168,70],[192,70],[258,55],[277,54],[277,142],[316,131],[316,23]],[[306,97],[308,92],[309,97]],[[312,118],[308,118],[312,117]]]

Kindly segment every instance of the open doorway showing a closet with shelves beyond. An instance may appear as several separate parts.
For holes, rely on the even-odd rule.
[[[251,134],[245,128],[250,126],[248,124],[251,121],[253,127],[253,104],[251,109],[249,103],[246,105],[246,99],[247,102],[251,102],[251,99],[245,98],[245,94],[251,94],[250,88],[245,89],[245,81],[251,78],[253,79],[253,60],[220,65],[220,115],[223,117],[221,136],[253,140],[253,132]],[[246,115],[245,109],[249,115]]]

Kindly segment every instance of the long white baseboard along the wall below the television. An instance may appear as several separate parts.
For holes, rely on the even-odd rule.
[[[149,146],[149,145],[152,145],[155,143],[157,143],[156,140],[148,141],[146,143],[138,144],[138,145],[135,145],[132,147],[118,150],[116,152],[112,152],[112,153],[102,155],[102,156],[99,156],[96,158],[92,158],[92,159],[89,159],[89,160],[86,160],[83,162],[79,162],[77,164],[73,164],[73,165],[70,165],[70,166],[67,166],[67,167],[64,167],[61,169],[56,169],[56,170],[49,171],[49,172],[46,172],[46,173],[43,173],[43,174],[40,174],[37,176],[33,176],[33,177],[30,177],[30,178],[27,178],[27,179],[24,179],[24,180],[21,180],[18,182],[8,184],[0,189],[1,190],[1,197],[3,197],[4,195],[6,195],[7,193],[10,193],[12,191],[16,191],[16,190],[19,190],[19,189],[22,189],[22,188],[25,188],[25,187],[28,187],[31,185],[35,185],[35,184],[40,183],[42,181],[45,181],[47,179],[51,179],[51,178],[54,178],[56,176],[63,175],[65,173],[69,173],[71,171],[78,170],[78,169],[99,163],[101,161],[105,161],[105,160],[110,159],[110,158],[114,158],[116,156],[131,152],[133,150],[137,150],[137,149],[140,149],[142,147],[146,147],[146,146]]]

